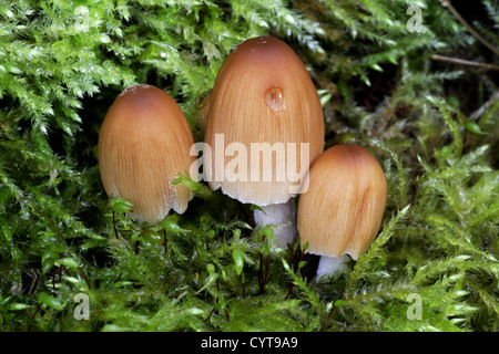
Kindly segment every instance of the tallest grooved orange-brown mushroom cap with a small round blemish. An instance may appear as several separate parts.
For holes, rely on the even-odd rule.
[[[299,185],[312,162],[323,152],[325,135],[317,90],[296,53],[272,37],[241,43],[222,65],[208,100],[205,142],[213,156],[224,155],[232,143],[247,152],[246,160],[237,150],[232,152],[233,156],[225,154],[222,160],[213,158],[213,165],[206,164],[207,175],[212,176],[210,186],[222,188],[224,194],[242,202],[258,206],[283,204],[296,195],[293,190],[299,188],[294,187]],[[216,136],[220,134],[223,135],[223,145],[217,146]],[[262,149],[265,143],[268,144],[266,147],[276,149],[284,146],[285,158],[277,162],[275,149],[272,165],[264,165],[266,153],[252,149],[252,143]],[[276,143],[279,145],[274,145]],[[296,153],[288,154],[286,149],[292,146],[288,143],[295,143]],[[308,144],[308,153],[304,150],[303,156],[302,143]],[[218,152],[220,147],[224,152]],[[304,156],[306,166],[301,168]],[[295,160],[289,163],[289,158]],[[225,171],[233,171],[231,162],[234,159],[242,164],[238,169],[234,168],[236,178],[232,178],[238,180],[230,181]],[[252,164],[259,165],[259,174],[255,168],[252,170]],[[242,178],[242,166],[247,167],[246,178]],[[292,176],[288,168],[302,176]],[[216,176],[224,176],[224,180]]]

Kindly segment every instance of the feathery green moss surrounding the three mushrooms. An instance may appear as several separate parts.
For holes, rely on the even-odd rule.
[[[405,1],[268,3],[0,3],[2,331],[497,331],[497,75],[430,55],[498,59],[438,1],[415,3],[422,33],[407,32]],[[496,10],[477,4],[472,24],[497,46]],[[139,225],[99,176],[121,90],[167,91],[201,140],[223,60],[261,34],[309,69],[326,147],[369,147],[388,180],[374,244],[319,282],[317,259],[274,248],[252,206],[181,178],[187,211]],[[89,320],[74,316],[80,293]]]

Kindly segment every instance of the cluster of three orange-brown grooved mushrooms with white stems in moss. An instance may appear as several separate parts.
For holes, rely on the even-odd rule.
[[[324,152],[317,90],[286,43],[272,37],[241,43],[223,63],[200,118],[211,148],[203,173],[210,187],[256,205],[255,222],[274,227],[277,247],[299,235],[302,246],[320,256],[317,279],[367,250],[387,198],[383,168],[355,144]],[[170,95],[150,85],[126,88],[99,136],[105,191],[132,202],[138,220],[154,223],[171,209],[184,212],[191,192],[172,181],[187,171],[200,179],[193,146]]]

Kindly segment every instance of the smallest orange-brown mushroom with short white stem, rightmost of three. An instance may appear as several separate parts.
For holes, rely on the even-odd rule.
[[[320,256],[317,280],[346,269],[373,243],[387,198],[385,174],[366,148],[337,145],[312,165],[298,202],[301,244]]]

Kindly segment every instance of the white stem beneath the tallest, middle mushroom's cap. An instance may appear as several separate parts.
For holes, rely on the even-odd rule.
[[[296,228],[296,206],[292,198],[284,204],[273,204],[261,207],[254,212],[255,223],[265,226],[274,226],[274,243],[278,248],[287,249],[288,244],[293,246],[298,237]]]

